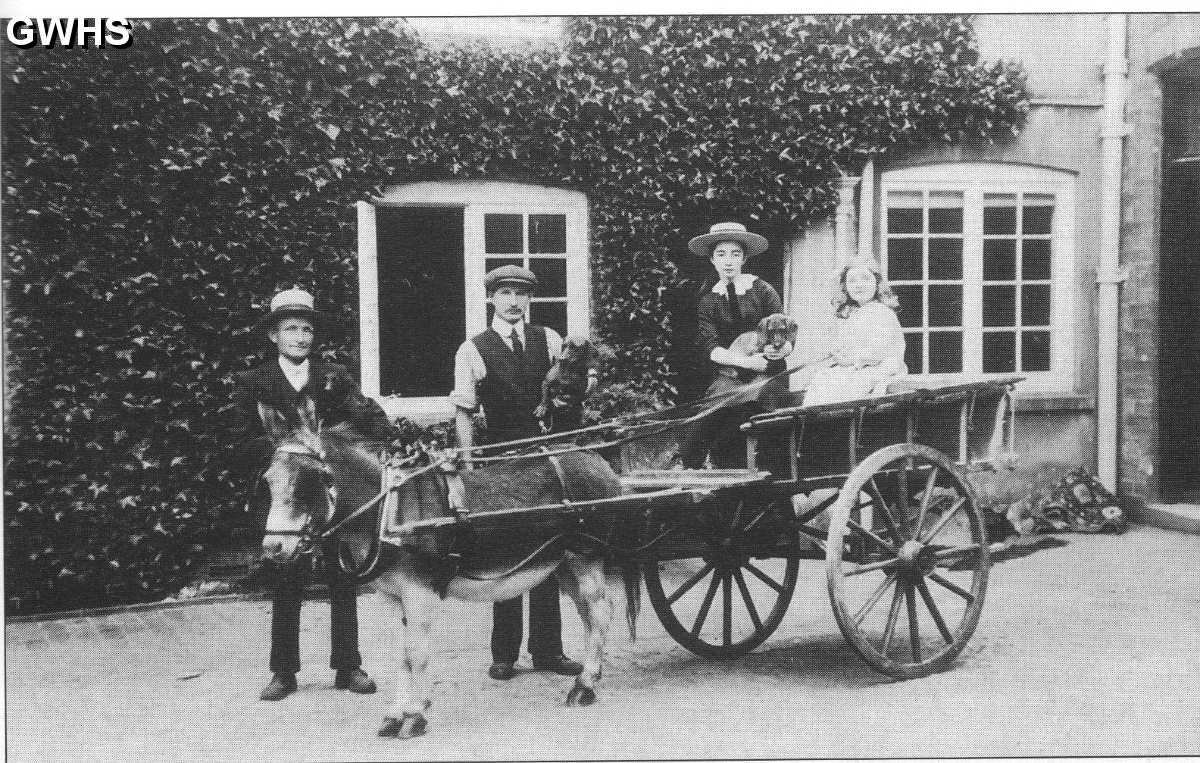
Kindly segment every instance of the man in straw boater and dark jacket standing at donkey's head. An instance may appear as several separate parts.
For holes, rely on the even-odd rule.
[[[236,377],[232,452],[236,468],[250,479],[258,477],[270,465],[275,450],[258,416],[258,403],[271,405],[295,422],[299,419],[296,409],[312,399],[318,420],[325,425],[348,422],[379,443],[388,443],[398,434],[379,404],[362,395],[344,366],[312,355],[320,318],[307,292],[289,289],[276,294],[264,329],[278,352]],[[359,654],[358,588],[341,571],[336,545],[326,546],[325,554],[330,600],[329,667],[337,671],[334,685],[356,693],[372,693],[376,684],[362,671]],[[283,699],[296,690],[302,595],[304,579],[299,575],[283,573],[275,585],[270,661],[274,677],[260,695],[263,699]]]

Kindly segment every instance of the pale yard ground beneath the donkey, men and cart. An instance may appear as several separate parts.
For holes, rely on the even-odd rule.
[[[912,681],[869,669],[838,632],[820,563],[756,653],[713,662],[647,606],[614,629],[600,702],[570,679],[485,675],[490,609],[451,602],[436,629],[430,733],[374,733],[390,690],[388,618],[360,603],[380,693],[335,691],[328,606],[305,606],[300,692],[258,701],[266,602],[6,625],[7,753],[42,761],[361,761],[947,757],[1200,753],[1200,536],[1134,528],[1066,536],[998,564],[956,667]],[[578,635],[564,602],[568,650]]]

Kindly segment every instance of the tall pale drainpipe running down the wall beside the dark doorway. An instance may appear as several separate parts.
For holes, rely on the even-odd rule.
[[[1108,59],[1104,62],[1104,124],[1100,128],[1102,211],[1100,263],[1096,268],[1099,337],[1096,383],[1096,462],[1100,482],[1117,492],[1117,340],[1121,335],[1121,161],[1124,137],[1126,59],[1124,13],[1109,14]]]

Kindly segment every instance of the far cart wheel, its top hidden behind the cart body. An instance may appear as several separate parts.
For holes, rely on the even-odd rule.
[[[769,506],[748,510],[739,503],[732,522],[726,517],[720,528],[707,528],[702,557],[643,565],[654,612],[690,651],[706,657],[740,656],[767,641],[784,620],[799,561],[755,558],[748,539],[772,511]]]

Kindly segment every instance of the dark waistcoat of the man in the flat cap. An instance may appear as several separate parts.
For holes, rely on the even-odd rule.
[[[487,376],[475,395],[487,417],[487,440],[504,443],[540,433],[533,409],[541,402],[541,382],[550,371],[546,331],[526,325],[524,353],[516,356],[500,335],[491,329],[472,340]]]

